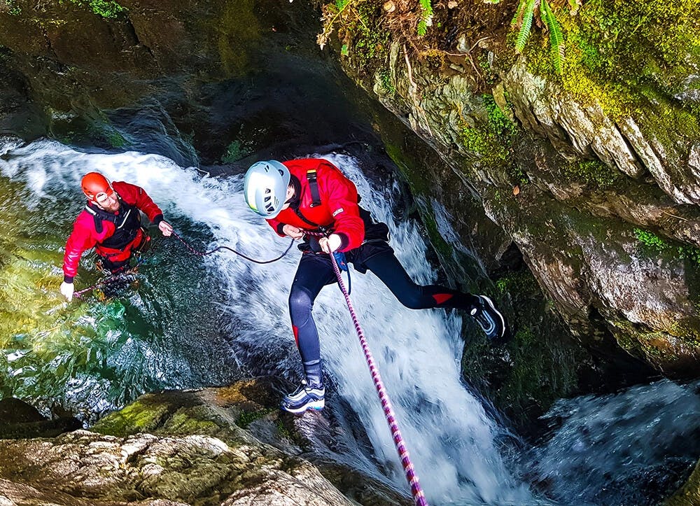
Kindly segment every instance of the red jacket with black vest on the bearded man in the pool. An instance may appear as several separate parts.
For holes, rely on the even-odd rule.
[[[97,246],[98,255],[113,262],[130,258],[132,248],[140,244],[144,237],[140,229],[139,210],[146,213],[155,225],[163,220],[160,208],[140,186],[114,181],[112,188],[122,202],[122,207],[117,213],[102,211],[88,202],[73,224],[73,232],[66,242],[66,253],[63,257],[66,283],[71,283],[78,272],[80,256],[94,246]],[[122,226],[118,229],[118,225]],[[119,237],[125,237],[125,240],[120,241]]]

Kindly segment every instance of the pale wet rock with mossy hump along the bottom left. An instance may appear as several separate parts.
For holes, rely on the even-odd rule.
[[[258,379],[148,394],[92,431],[0,440],[0,504],[410,504],[342,463],[300,458],[314,456],[300,430],[308,416],[269,405],[279,386]]]

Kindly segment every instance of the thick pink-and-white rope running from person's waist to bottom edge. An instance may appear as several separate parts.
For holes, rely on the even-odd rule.
[[[365,360],[367,360],[367,365],[370,367],[372,381],[374,381],[374,387],[377,388],[377,394],[379,394],[381,407],[384,409],[384,416],[386,416],[386,423],[388,423],[388,426],[391,429],[391,436],[393,438],[396,451],[398,451],[398,456],[401,459],[401,465],[403,466],[403,470],[406,473],[406,479],[408,480],[408,484],[411,486],[411,494],[413,496],[414,503],[416,504],[416,506],[428,506],[428,501],[426,500],[426,496],[423,493],[423,489],[421,489],[421,484],[418,481],[418,476],[414,472],[413,464],[408,455],[408,450],[406,449],[406,446],[403,442],[403,438],[401,437],[401,432],[398,428],[396,417],[393,413],[393,409],[391,408],[391,402],[388,398],[386,391],[384,390],[384,384],[381,382],[379,370],[377,370],[377,366],[374,365],[374,358],[372,357],[372,353],[370,353],[370,347],[367,345],[367,339],[365,339],[364,332],[360,327],[360,323],[358,323],[357,315],[355,314],[355,309],[353,309],[352,302],[350,301],[350,295],[345,289],[343,279],[340,274],[340,267],[338,265],[337,260],[335,260],[335,255],[330,255],[330,258],[333,264],[333,270],[335,271],[335,276],[338,279],[338,286],[340,287],[340,291],[342,291],[345,297],[345,302],[350,311],[350,316],[352,317],[352,321],[355,324],[357,336],[360,339],[362,351],[365,353]]]

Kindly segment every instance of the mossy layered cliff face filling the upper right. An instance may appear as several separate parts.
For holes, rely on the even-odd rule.
[[[425,36],[416,6],[363,5],[326,16],[344,68],[440,153],[458,176],[451,191],[481,202],[571,332],[594,349],[612,337],[665,374],[696,374],[696,3],[555,6],[561,75],[537,29],[515,55],[510,2],[435,4]],[[465,229],[470,207],[446,208]]]

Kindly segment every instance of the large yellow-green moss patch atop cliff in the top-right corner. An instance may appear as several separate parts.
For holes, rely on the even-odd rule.
[[[563,9],[559,12],[564,14]],[[528,68],[559,80],[582,104],[600,104],[613,120],[651,106],[659,113],[648,118],[657,123],[654,132],[684,124],[684,133],[696,136],[697,111],[679,107],[673,94],[689,66],[700,64],[699,17],[700,3],[695,0],[587,1],[577,16],[557,16],[566,38],[563,75],[554,73],[541,34],[539,41],[526,46]],[[685,116],[679,111],[690,113],[682,123],[666,117]]]

